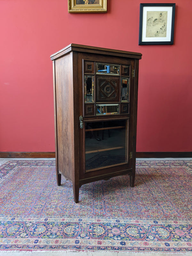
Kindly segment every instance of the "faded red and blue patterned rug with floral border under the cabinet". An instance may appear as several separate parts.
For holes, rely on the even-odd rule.
[[[56,185],[54,161],[0,167],[0,251],[192,252],[192,161],[139,161],[129,176]]]

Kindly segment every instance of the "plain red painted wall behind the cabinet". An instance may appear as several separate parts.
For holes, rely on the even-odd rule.
[[[69,14],[67,0],[1,0],[0,151],[55,151],[50,55],[70,43],[141,52],[137,151],[192,151],[192,1],[174,2],[174,44],[150,46],[138,45],[139,0],[92,14]]]

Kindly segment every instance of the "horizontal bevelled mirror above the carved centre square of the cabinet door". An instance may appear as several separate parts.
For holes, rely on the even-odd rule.
[[[110,74],[117,75],[120,74],[120,65],[116,64],[106,64],[106,63],[96,63],[96,73],[97,74]]]

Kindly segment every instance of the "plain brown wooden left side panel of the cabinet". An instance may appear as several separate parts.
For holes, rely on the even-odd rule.
[[[55,60],[58,170],[73,181],[74,115],[72,53]]]

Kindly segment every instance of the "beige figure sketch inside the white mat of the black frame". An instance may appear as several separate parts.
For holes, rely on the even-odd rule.
[[[147,12],[146,37],[167,36],[167,11]]]

